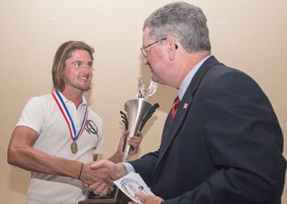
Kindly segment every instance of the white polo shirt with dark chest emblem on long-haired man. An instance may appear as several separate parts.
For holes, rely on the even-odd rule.
[[[83,103],[76,110],[74,102],[68,101],[63,94],[61,96],[78,132],[83,123],[87,102],[83,97]],[[103,153],[102,120],[90,109],[85,129],[76,140],[78,152],[72,153],[73,140],[69,128],[51,93],[31,98],[16,126],[35,129],[38,138],[33,147],[48,155],[85,164],[93,161],[93,154]],[[86,193],[83,183],[77,179],[32,172],[27,203],[75,204],[79,200],[84,200]]]

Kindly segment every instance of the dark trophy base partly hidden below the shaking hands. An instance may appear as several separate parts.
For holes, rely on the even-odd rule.
[[[79,201],[78,204],[105,204],[105,203],[116,203],[116,204],[126,204],[131,201],[122,191],[115,189],[109,195],[100,197],[99,195],[93,193],[92,191],[88,192],[86,200]]]

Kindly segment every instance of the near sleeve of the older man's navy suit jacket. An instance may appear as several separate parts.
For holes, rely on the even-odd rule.
[[[204,99],[203,123],[217,171],[194,191],[163,203],[281,203],[283,133],[256,82],[238,72],[217,78]]]

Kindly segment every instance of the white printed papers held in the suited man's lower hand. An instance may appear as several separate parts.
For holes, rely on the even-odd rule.
[[[145,182],[143,182],[142,177],[138,173],[128,173],[114,183],[128,198],[134,200],[136,203],[143,204],[143,202],[135,196],[137,192],[153,195],[152,191],[147,187]]]

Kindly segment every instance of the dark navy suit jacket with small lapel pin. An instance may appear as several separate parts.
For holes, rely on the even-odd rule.
[[[199,68],[161,147],[130,162],[163,203],[281,203],[283,133],[257,83],[213,56]]]

